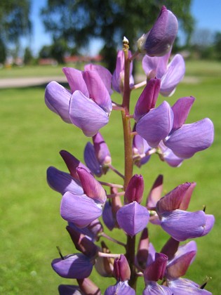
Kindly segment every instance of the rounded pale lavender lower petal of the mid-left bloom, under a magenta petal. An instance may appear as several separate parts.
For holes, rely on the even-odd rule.
[[[101,214],[101,207],[86,195],[65,192],[62,197],[60,215],[65,221],[72,222],[79,228],[85,228]]]

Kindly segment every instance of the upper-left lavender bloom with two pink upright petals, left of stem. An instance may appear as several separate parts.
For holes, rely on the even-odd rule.
[[[67,123],[78,126],[86,136],[93,136],[109,121],[112,100],[95,70],[63,69],[71,92],[55,81],[46,87],[45,101],[50,110]]]

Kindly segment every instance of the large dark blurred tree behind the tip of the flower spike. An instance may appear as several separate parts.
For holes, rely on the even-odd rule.
[[[191,0],[48,0],[41,16],[55,39],[62,38],[82,48],[88,46],[91,38],[100,37],[105,41],[105,55],[109,56],[123,36],[133,48],[138,37],[153,25],[162,5],[180,19],[188,41],[194,25],[190,4]],[[113,66],[112,60],[109,68],[112,70]]]

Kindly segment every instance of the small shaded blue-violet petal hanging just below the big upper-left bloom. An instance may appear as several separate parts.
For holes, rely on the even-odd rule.
[[[92,143],[88,142],[83,152],[84,162],[95,176],[102,176],[102,169],[95,155],[95,148]]]

